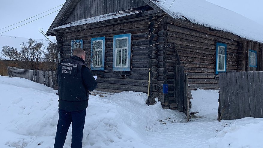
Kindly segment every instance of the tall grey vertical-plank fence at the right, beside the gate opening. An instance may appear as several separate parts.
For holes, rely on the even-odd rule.
[[[263,71],[219,73],[218,120],[262,118]]]

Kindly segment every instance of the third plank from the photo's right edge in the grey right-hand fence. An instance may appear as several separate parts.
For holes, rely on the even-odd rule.
[[[254,78],[253,72],[247,72],[248,78],[248,93],[249,93],[249,103],[250,103],[250,117],[256,118],[256,102],[254,96]]]

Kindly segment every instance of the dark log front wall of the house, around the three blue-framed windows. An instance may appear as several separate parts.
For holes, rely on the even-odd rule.
[[[97,75],[98,90],[107,92],[139,91],[148,93],[148,26],[149,19],[119,23],[92,29],[64,33],[62,39],[64,58],[69,58],[71,40],[82,39],[86,51],[86,63],[90,64],[91,38],[105,36],[105,71],[93,71]],[[113,71],[113,36],[131,33],[131,71]],[[156,34],[155,34],[156,35]],[[157,40],[157,38],[152,38]],[[155,41],[153,41],[155,43]],[[145,48],[146,47],[146,48]],[[150,50],[155,53],[157,47]],[[155,63],[155,61],[153,61]],[[150,91],[157,97],[156,65],[152,65]]]

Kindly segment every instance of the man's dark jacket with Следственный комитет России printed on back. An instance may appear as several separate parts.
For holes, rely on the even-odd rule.
[[[97,81],[82,58],[70,56],[58,66],[58,107],[78,111],[88,107],[88,91],[97,88]]]

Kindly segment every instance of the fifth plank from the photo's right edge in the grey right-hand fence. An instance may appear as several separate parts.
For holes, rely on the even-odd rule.
[[[239,108],[239,118],[241,119],[245,117],[241,72],[236,72],[236,78],[237,78],[237,99],[238,99],[238,108]]]

